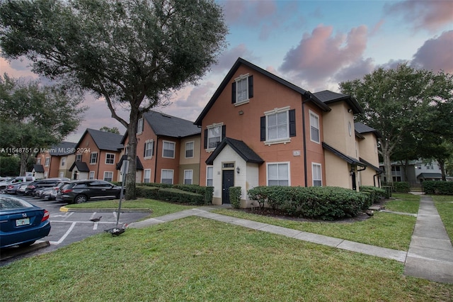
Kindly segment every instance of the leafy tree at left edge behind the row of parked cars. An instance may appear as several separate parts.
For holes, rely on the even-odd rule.
[[[82,98],[62,86],[41,86],[7,74],[0,77],[0,136],[6,153],[21,158],[19,175],[40,148],[64,140],[79,126]]]

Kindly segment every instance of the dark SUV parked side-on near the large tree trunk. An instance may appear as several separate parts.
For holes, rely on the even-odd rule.
[[[120,198],[121,187],[108,181],[87,179],[69,181],[58,191],[57,201],[83,203],[91,199]]]

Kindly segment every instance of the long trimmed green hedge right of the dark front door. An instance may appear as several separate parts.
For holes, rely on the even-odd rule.
[[[367,195],[333,186],[256,186],[248,197],[291,214],[306,218],[333,220],[357,216],[367,202]]]

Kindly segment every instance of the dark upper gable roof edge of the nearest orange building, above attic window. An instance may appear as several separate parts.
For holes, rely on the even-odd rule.
[[[233,74],[236,72],[236,70],[241,65],[249,67],[256,72],[263,74],[265,77],[269,77],[270,79],[273,79],[274,81],[276,81],[284,86],[287,86],[289,89],[299,92],[299,94],[306,96],[306,98],[308,98],[310,101],[312,101],[316,106],[321,108],[323,111],[331,110],[331,108],[329,108],[326,104],[323,104],[323,102],[320,101],[318,98],[316,98],[316,96],[314,94],[312,94],[310,91],[306,91],[306,90],[300,88],[299,86],[289,83],[285,79],[282,79],[281,77],[277,77],[275,74],[272,74],[272,73],[268,72],[267,70],[262,69],[256,65],[253,65],[251,62],[243,60],[241,57],[239,57],[238,60],[236,60],[236,62],[234,63],[233,67],[231,67],[231,69],[229,69],[229,72],[226,74],[222,83],[217,88],[217,90],[214,92],[214,95],[211,97],[210,101],[207,103],[205,108],[203,108],[203,111],[200,113],[200,116],[198,116],[197,121],[195,121],[195,125],[201,125],[202,119],[206,116],[207,112],[210,111],[210,108],[214,105],[215,101],[217,101],[217,98],[222,93],[222,91],[224,91],[226,85],[229,84],[231,77],[233,77]]]

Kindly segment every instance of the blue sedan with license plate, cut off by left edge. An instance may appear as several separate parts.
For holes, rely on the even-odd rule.
[[[49,233],[48,211],[21,198],[0,194],[0,248],[27,247]]]

